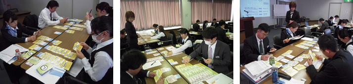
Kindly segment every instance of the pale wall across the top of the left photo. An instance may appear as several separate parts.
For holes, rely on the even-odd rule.
[[[49,0],[6,0],[11,8],[17,8],[19,11],[31,11],[31,14],[39,16],[41,11],[46,7]],[[61,17],[69,17],[84,20],[86,12],[92,9],[92,14],[96,16],[95,6],[100,0],[56,0],[59,3],[59,7],[56,12]],[[110,5],[113,4],[113,0],[101,0],[107,1]],[[112,5],[111,5],[112,6]],[[114,10],[114,9],[113,9]]]

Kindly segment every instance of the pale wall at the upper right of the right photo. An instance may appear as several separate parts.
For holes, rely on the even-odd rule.
[[[352,19],[352,2],[343,2],[343,0],[297,0],[297,10],[300,17],[306,17],[310,20],[318,20],[323,18],[327,20],[330,16],[329,6],[330,2],[340,2],[341,12],[340,19]]]

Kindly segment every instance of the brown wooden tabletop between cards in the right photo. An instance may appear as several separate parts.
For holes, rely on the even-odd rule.
[[[301,43],[301,42],[303,42],[303,41],[304,41],[304,40],[299,40],[299,41],[297,41],[297,42],[294,42],[294,43],[292,43],[291,45],[288,45],[288,46],[286,46],[286,47],[283,47],[282,49],[277,50],[277,51],[276,51],[275,53],[273,53],[272,55],[275,56],[275,57],[278,57],[278,56],[282,55],[283,53],[285,53],[285,52],[288,51],[288,50],[293,50],[293,52],[292,52],[290,55],[295,56],[295,57],[293,57],[293,58],[289,58],[289,57],[287,57],[287,56],[284,57],[284,58],[286,58],[286,59],[288,59],[288,60],[293,60],[294,58],[296,58],[296,57],[298,57],[298,56],[302,56],[303,54],[308,54],[308,53],[309,53],[309,50],[312,50],[312,49],[314,49],[314,46],[317,46],[317,44],[315,44],[313,47],[310,47],[309,49],[302,49],[302,48],[299,48],[299,47],[295,47],[295,45],[297,45],[297,44],[299,44],[299,43]],[[327,58],[326,56],[324,56],[324,55],[322,54],[321,51],[319,51],[319,52],[314,52],[314,53],[315,53],[315,54],[318,54],[318,55],[321,55],[321,56],[323,56],[323,57],[325,57],[325,58]],[[302,60],[301,62],[299,62],[298,64],[303,64],[303,65],[304,65],[307,60],[308,60],[308,58],[303,58],[303,60]],[[283,65],[285,64],[285,63],[282,62],[282,61],[277,61],[277,62],[281,62]],[[321,64],[320,68],[317,69],[317,71],[320,70],[322,66],[323,66],[323,64]],[[306,66],[306,67],[307,67],[307,66]],[[244,66],[240,67],[240,73],[243,73],[243,71],[242,71],[243,69],[245,69]],[[279,68],[278,71],[281,72],[281,73],[287,74],[287,73],[283,72],[281,69],[282,69],[282,67]],[[288,75],[288,74],[287,74],[287,75]],[[308,73],[306,72],[306,69],[302,69],[302,70],[298,71],[298,73],[295,74],[294,76],[292,76],[292,78],[294,78],[294,79],[296,79],[296,80],[301,80],[302,78],[304,78],[304,79],[307,80],[307,81],[305,82],[305,84],[309,84],[309,83],[311,82],[311,79],[310,79]],[[260,84],[273,84],[273,83],[272,83],[272,76],[269,76],[267,79],[263,80]]]

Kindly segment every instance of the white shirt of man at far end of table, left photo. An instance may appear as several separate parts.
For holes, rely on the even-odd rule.
[[[48,8],[44,8],[41,11],[41,14],[38,17],[38,27],[39,28],[45,28],[48,26],[55,26],[60,24],[60,20],[63,19],[62,17],[60,17],[56,11],[51,13],[51,18],[52,19],[56,19],[57,21],[51,21],[50,20],[50,11]]]

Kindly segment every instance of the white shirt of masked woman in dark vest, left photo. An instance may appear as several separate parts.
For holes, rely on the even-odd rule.
[[[89,47],[89,49],[87,50],[87,53],[91,55],[93,51],[98,50],[111,43],[113,43],[113,38],[107,41],[104,41],[102,43],[99,43],[97,45],[97,48],[95,49],[92,49]],[[81,60],[81,62],[84,65],[85,72],[90,76],[90,78],[94,82],[97,82],[104,77],[105,73],[108,71],[109,68],[113,67],[113,59],[108,55],[107,52],[104,52],[104,51],[97,52],[94,55],[94,59],[95,60],[94,60],[93,67],[90,66],[88,59],[86,57],[84,57]]]

